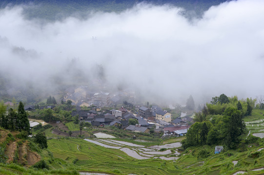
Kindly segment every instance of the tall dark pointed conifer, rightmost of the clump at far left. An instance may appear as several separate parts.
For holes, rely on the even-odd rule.
[[[29,133],[30,124],[22,102],[19,103],[17,127]]]

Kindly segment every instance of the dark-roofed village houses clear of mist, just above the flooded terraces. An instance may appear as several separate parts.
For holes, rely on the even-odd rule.
[[[98,113],[96,108],[87,110],[76,110],[72,116],[78,116],[80,121],[91,123],[92,126],[116,126],[120,129],[134,132],[148,133],[150,129],[155,132],[163,131],[165,135],[181,136],[187,133],[191,118],[177,118],[171,121],[171,114],[162,110],[159,106],[147,108],[138,107],[138,113],[134,114],[125,108],[109,110],[106,114]],[[129,125],[129,119],[136,119],[138,124]],[[189,120],[189,121],[188,121]]]

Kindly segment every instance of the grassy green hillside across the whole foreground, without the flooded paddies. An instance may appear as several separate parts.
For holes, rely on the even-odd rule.
[[[264,110],[254,109],[252,116],[244,119],[251,132],[262,132],[260,124],[264,120],[263,114]],[[69,127],[74,128],[76,126],[70,123]],[[110,131],[106,131],[110,134]],[[246,172],[248,175],[264,174],[264,139],[254,137],[252,134],[241,137],[244,142],[238,146],[237,150],[223,150],[220,154],[214,154],[215,145],[190,147],[185,151],[181,148],[173,148],[173,150],[181,153],[179,158],[175,160],[163,160],[155,157],[137,159],[128,156],[120,149],[105,148],[77,138],[50,139],[48,140],[48,149],[39,150],[30,140],[23,142],[18,139],[18,133],[0,130],[0,134],[1,146],[5,145],[5,153],[9,155],[7,161],[11,163],[0,164],[0,175],[70,175],[78,174],[78,172],[103,172],[112,175],[233,175],[236,172]],[[115,140],[139,144],[148,148],[150,145],[162,145],[183,139],[184,137],[170,138],[161,140],[161,142],[139,142],[131,139]],[[101,140],[101,142],[109,144],[105,140]],[[25,147],[28,148],[27,153],[23,151],[26,150]],[[136,150],[135,147],[128,145],[122,145],[122,147]],[[28,157],[30,152],[33,153],[34,150],[36,150],[37,155],[41,156],[40,159],[46,163],[49,170],[40,170],[30,166]],[[11,159],[9,159],[10,157]],[[16,162],[20,166],[12,162]],[[21,165],[29,168],[25,169]]]

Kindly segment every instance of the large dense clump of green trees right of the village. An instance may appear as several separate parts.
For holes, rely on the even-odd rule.
[[[236,149],[240,136],[246,132],[243,118],[251,115],[256,100],[238,100],[236,96],[222,94],[213,97],[210,104],[203,106],[202,112],[196,113],[195,121],[182,141],[183,148],[198,145],[223,144],[227,149]]]

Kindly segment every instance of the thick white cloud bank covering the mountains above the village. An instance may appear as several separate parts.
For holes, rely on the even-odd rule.
[[[211,7],[192,21],[172,6],[138,4],[87,19],[28,20],[23,8],[0,10],[0,72],[51,87],[70,77],[70,61],[91,78],[102,65],[108,84],[185,101],[264,94],[264,0]],[[96,38],[96,39],[93,39]]]

